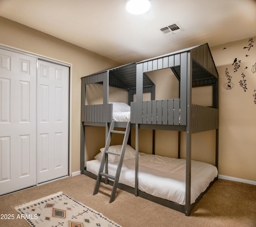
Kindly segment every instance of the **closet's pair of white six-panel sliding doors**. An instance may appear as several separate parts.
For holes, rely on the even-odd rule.
[[[69,67],[0,48],[0,195],[68,175]]]

